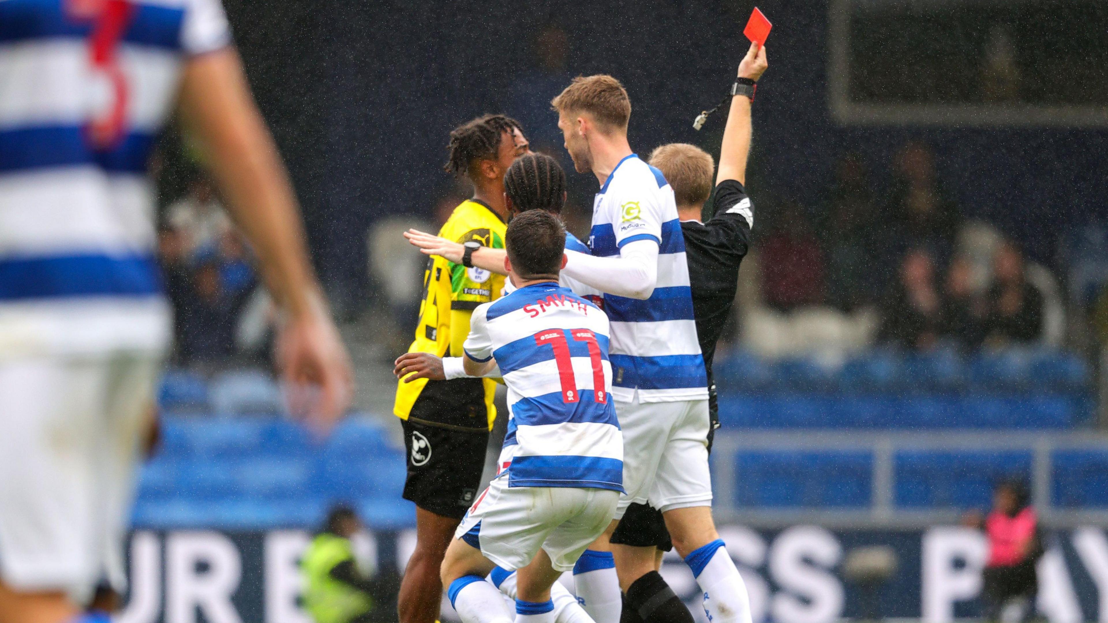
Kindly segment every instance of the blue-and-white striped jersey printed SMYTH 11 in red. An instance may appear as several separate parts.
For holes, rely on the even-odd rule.
[[[507,386],[501,461],[509,487],[623,491],[623,435],[609,396],[608,319],[554,282],[480,305],[465,355],[495,358]]]

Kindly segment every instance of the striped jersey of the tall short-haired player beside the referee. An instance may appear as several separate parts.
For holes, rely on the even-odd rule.
[[[614,257],[630,242],[658,243],[654,294],[638,300],[604,294],[612,321],[612,394],[632,401],[708,398],[708,377],[697,340],[685,237],[674,190],[657,168],[632,154],[608,175],[593,206],[592,254]]]

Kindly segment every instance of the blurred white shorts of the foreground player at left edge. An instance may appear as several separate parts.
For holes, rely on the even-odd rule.
[[[0,359],[0,580],[83,599],[122,541],[161,357]]]

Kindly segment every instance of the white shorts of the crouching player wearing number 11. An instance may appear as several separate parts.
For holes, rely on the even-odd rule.
[[[571,487],[509,487],[493,479],[454,533],[497,565],[526,566],[540,549],[554,569],[570,571],[612,523],[619,492]]]

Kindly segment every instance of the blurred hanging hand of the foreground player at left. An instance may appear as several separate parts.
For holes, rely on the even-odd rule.
[[[321,305],[281,327],[277,364],[291,413],[328,432],[350,406],[353,374],[338,329]]]

